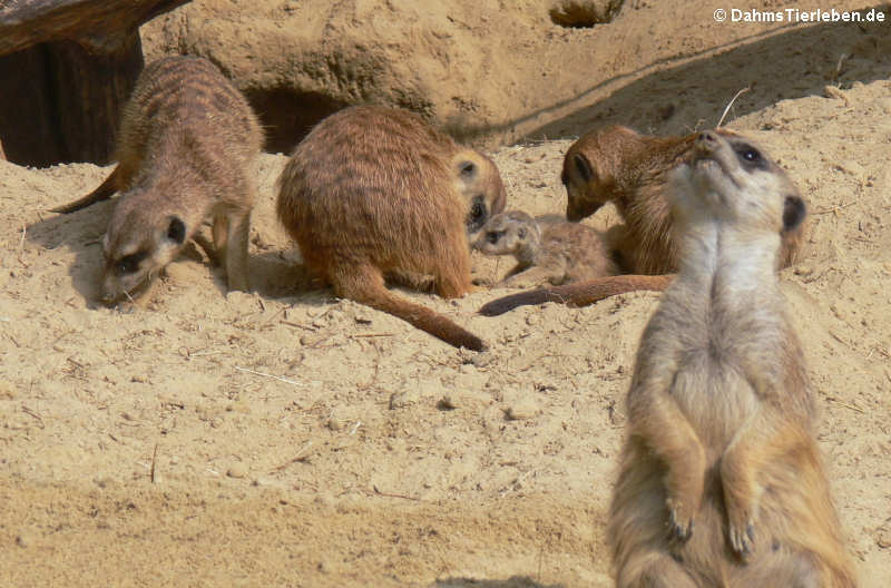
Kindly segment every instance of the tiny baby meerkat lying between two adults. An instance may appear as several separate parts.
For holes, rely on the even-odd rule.
[[[473,242],[473,248],[486,255],[512,255],[517,259],[498,286],[560,285],[617,273],[598,231],[578,223],[538,222],[522,210],[491,217]]]

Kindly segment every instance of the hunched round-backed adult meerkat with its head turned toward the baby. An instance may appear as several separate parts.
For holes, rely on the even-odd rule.
[[[469,239],[505,208],[495,163],[405,110],[359,106],[325,118],[278,178],[277,215],[307,268],[334,293],[459,347],[483,341],[386,290],[384,277],[444,298],[471,290]]]

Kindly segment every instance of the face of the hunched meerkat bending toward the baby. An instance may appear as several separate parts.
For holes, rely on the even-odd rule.
[[[453,159],[458,190],[468,203],[464,224],[468,237],[472,237],[507,204],[507,192],[495,161],[484,155],[467,149]]]

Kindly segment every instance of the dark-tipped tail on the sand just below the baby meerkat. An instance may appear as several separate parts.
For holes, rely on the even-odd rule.
[[[498,316],[499,314],[512,311],[517,306],[542,304],[546,302],[559,302],[569,306],[587,306],[597,301],[626,292],[635,292],[638,290],[662,292],[672,283],[673,278],[674,274],[658,276],[620,275],[598,277],[587,282],[530,290],[528,292],[503,296],[484,304],[479,312],[486,316]]]

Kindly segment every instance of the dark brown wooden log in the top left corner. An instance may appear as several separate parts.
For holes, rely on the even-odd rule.
[[[107,164],[143,69],[138,27],[188,0],[0,0],[0,139],[10,161]]]

